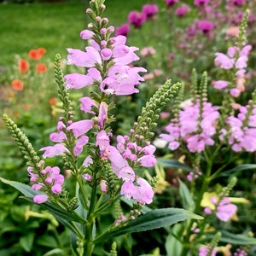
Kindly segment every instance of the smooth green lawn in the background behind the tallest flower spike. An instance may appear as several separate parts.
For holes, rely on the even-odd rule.
[[[109,24],[119,26],[132,9],[140,10],[147,0],[106,0]],[[44,47],[67,55],[66,48],[83,48],[79,32],[90,20],[84,14],[89,0],[63,3],[0,4],[0,66],[14,63],[14,56],[26,56],[29,49]]]

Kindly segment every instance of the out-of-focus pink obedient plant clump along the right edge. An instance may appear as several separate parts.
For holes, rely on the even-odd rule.
[[[234,243],[234,246],[246,244],[248,251],[249,245],[256,243],[255,239],[248,237],[251,236],[249,233],[247,236],[237,234],[239,239],[243,237],[244,240],[236,240],[235,235],[223,230],[222,224],[219,224],[230,224],[232,219],[236,220],[236,213],[239,213],[236,203],[247,202],[243,198],[230,197],[237,182],[235,173],[243,168],[255,168],[253,164],[236,166],[236,159],[240,153],[256,151],[255,88],[244,106],[241,98],[239,101],[239,96],[245,93],[246,67],[251,49],[246,37],[248,15],[247,10],[241,21],[237,42],[229,47],[228,54],[215,54],[214,64],[219,68],[219,80],[213,81],[211,85],[217,93],[220,92],[221,101],[217,101],[219,104],[214,106],[211,97],[208,96],[207,73],[201,75],[201,82],[198,83],[194,70],[189,100],[183,101],[182,86],[173,104],[172,119],[165,127],[166,132],[160,134],[159,139],[162,139],[172,151],[182,154],[183,159],[189,163],[189,166],[178,166],[189,171],[186,174],[188,186],[182,180],[179,181],[183,206],[205,217],[201,223],[191,220],[184,225],[177,224],[174,227],[175,232],[170,231],[172,238],[169,241],[172,242],[166,245],[169,248],[168,255],[198,253],[200,256],[214,256],[221,252],[218,247],[220,242]],[[218,94],[214,94],[216,95]],[[164,160],[163,163],[167,164],[168,161]],[[169,161],[170,167],[175,164],[177,163]],[[228,185],[221,185],[218,180],[229,176],[230,172],[224,173],[230,166],[234,168],[234,172],[228,180]],[[213,232],[210,231],[210,227]],[[207,236],[207,233],[211,235]],[[240,251],[243,250],[238,248],[237,252]]]

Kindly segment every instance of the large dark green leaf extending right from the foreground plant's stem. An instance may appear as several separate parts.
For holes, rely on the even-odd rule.
[[[99,241],[103,241],[114,236],[121,236],[127,233],[159,229],[161,227],[176,224],[177,222],[188,218],[202,219],[201,216],[183,209],[155,209],[147,212],[141,217],[131,220],[131,222],[125,226],[117,226],[113,228],[113,230],[108,230],[106,233],[96,237],[94,242],[97,243]]]

